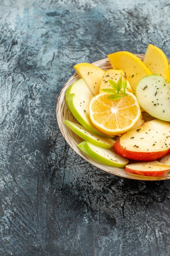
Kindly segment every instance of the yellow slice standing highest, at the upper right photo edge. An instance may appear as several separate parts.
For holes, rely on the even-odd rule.
[[[169,63],[166,55],[161,49],[154,45],[148,45],[145,53],[144,64],[153,74],[159,74],[170,82]]]

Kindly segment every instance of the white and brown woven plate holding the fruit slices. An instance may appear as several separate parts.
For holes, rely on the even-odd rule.
[[[144,55],[142,55],[142,54],[137,54],[137,57],[139,57],[142,61],[144,59]],[[168,59],[168,61],[170,61],[170,60]],[[112,68],[108,58],[102,59],[100,61],[96,61],[92,64],[96,65],[97,67],[102,68],[103,70],[109,70]],[[68,128],[68,126],[66,126],[64,124],[65,119],[73,121],[75,123],[78,123],[76,121],[76,119],[74,118],[74,116],[68,110],[68,107],[67,107],[67,104],[65,101],[65,92],[66,92],[67,88],[72,83],[77,81],[79,78],[80,77],[78,76],[77,73],[74,74],[72,77],[70,77],[70,79],[67,81],[67,83],[64,85],[63,89],[61,90],[61,93],[59,95],[59,99],[57,102],[57,121],[59,124],[59,128],[61,130],[63,137],[68,142],[68,144],[72,147],[72,149],[78,155],[83,157],[87,162],[93,164],[94,166],[98,167],[99,169],[101,169],[103,171],[106,171],[106,172],[114,174],[114,175],[118,175],[120,177],[129,178],[129,179],[133,179],[133,180],[150,180],[150,181],[152,181],[152,180],[169,180],[170,174],[168,174],[166,176],[162,176],[162,177],[147,177],[147,176],[127,173],[125,171],[125,168],[116,168],[116,167],[107,166],[105,164],[100,164],[99,162],[94,161],[92,158],[88,157],[87,155],[85,155],[81,152],[81,150],[77,147],[77,144],[79,144],[81,141],[83,141],[83,139],[78,137],[74,132],[72,132],[70,130],[70,128]]]

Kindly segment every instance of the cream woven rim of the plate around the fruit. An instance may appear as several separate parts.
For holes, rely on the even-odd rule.
[[[141,60],[144,59],[144,54],[135,54],[137,57],[139,57]],[[96,65],[98,66],[98,64],[100,63],[99,67],[101,68],[101,66],[103,67],[107,67],[106,70],[108,70],[108,65],[110,65],[111,67],[111,64],[109,62],[109,59],[108,58],[103,58],[103,59],[100,59],[98,61],[95,61],[93,62],[92,64],[93,65]],[[102,63],[102,65],[101,65]],[[170,59],[168,59],[168,63],[170,63]],[[124,170],[124,168],[117,168],[117,167],[111,167],[111,166],[107,166],[104,165],[104,164],[101,164],[97,161],[95,161],[94,159],[92,159],[91,157],[88,157],[87,155],[85,155],[77,146],[76,148],[73,147],[71,141],[68,139],[68,137],[65,136],[65,133],[63,131],[63,126],[65,126],[65,124],[62,122],[63,120],[63,112],[61,112],[60,110],[63,110],[63,108],[67,107],[67,104],[65,103],[65,105],[63,106],[61,102],[64,102],[65,101],[65,92],[67,90],[67,88],[72,84],[74,83],[75,81],[77,81],[78,79],[80,79],[80,76],[78,76],[78,74],[75,72],[69,79],[68,81],[65,83],[65,85],[63,86],[60,94],[59,94],[59,97],[57,99],[57,108],[56,108],[56,115],[57,115],[57,123],[58,123],[58,126],[59,126],[59,129],[61,131],[61,134],[63,135],[65,141],[69,144],[69,146],[80,156],[82,157],[83,159],[85,159],[87,162],[89,162],[90,164],[96,166],[97,168],[99,168],[100,170],[102,171],[105,171],[107,173],[111,173],[113,175],[116,175],[116,176],[119,176],[119,177],[122,177],[122,178],[128,178],[128,179],[131,179],[131,180],[144,180],[144,181],[159,181],[159,180],[169,180],[170,179],[170,174],[169,175],[166,175],[166,176],[160,176],[160,177],[151,177],[151,176],[144,176],[144,175],[137,175],[137,174],[133,174],[133,173],[128,173]],[[70,81],[72,82],[70,84]],[[63,108],[62,108],[63,106]],[[67,107],[68,108],[68,107]],[[72,115],[72,114],[71,114]],[[68,130],[70,130],[68,128]],[[74,134],[74,132],[72,132],[70,130],[70,133]],[[78,137],[78,135],[76,135],[76,137]],[[90,162],[90,160],[93,162]],[[100,168],[100,166],[104,167],[104,168]],[[113,169],[114,168],[114,169]],[[110,170],[109,170],[110,169]],[[113,170],[112,170],[113,169]],[[120,172],[117,172],[117,171],[114,171],[115,169],[119,169],[118,171]],[[121,170],[121,171],[120,171]],[[122,173],[123,172],[123,173]]]

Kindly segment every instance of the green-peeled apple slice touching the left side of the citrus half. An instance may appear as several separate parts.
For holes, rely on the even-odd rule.
[[[92,124],[92,121],[89,117],[89,107],[88,105],[82,101],[76,94],[69,94],[67,97],[68,108],[77,119],[77,121],[84,126],[90,132],[106,138],[112,138],[113,136],[109,136],[103,132],[100,132],[96,127]]]

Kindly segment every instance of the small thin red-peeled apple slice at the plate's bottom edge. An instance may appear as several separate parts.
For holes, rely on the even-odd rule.
[[[126,165],[125,171],[138,175],[159,177],[167,175],[170,171],[170,166],[162,164],[158,161],[138,162]]]

